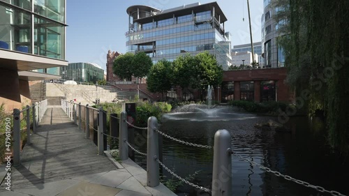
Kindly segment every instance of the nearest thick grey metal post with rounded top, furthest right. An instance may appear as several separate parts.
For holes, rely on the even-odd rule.
[[[212,196],[232,195],[232,139],[228,130],[214,134]]]

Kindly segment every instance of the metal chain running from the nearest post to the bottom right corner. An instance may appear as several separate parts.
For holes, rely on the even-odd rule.
[[[307,183],[306,181],[301,181],[301,180],[298,180],[298,179],[294,179],[292,178],[291,176],[288,176],[288,175],[284,175],[284,174],[281,174],[280,172],[276,172],[276,171],[273,171],[272,169],[268,168],[268,167],[264,167],[258,163],[255,163],[254,161],[252,160],[248,160],[248,158],[244,158],[243,156],[237,154],[237,153],[232,153],[232,155],[235,155],[235,156],[238,156],[239,158],[241,158],[242,160],[244,160],[245,162],[247,163],[250,163],[251,165],[256,165],[258,166],[260,169],[263,169],[265,170],[265,172],[269,172],[269,173],[272,173],[272,174],[275,174],[276,176],[281,176],[283,177],[283,179],[285,180],[288,180],[288,181],[293,181],[295,183],[298,183],[302,186],[305,186],[305,187],[309,187],[309,188],[313,188],[315,190],[318,190],[319,192],[321,193],[329,193],[331,195],[335,195],[335,196],[346,196],[346,195],[343,195],[337,191],[334,191],[334,190],[325,190],[325,188],[321,187],[321,186],[315,186],[315,185],[312,185],[311,183]]]

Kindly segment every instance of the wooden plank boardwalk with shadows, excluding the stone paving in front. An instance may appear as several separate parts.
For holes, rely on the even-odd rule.
[[[24,146],[21,160],[22,165],[12,167],[11,189],[117,169],[106,156],[98,155],[94,142],[84,137],[84,131],[60,107],[47,109],[31,135],[31,144]]]

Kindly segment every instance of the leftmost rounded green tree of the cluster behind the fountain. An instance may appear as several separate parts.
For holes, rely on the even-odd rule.
[[[172,67],[171,62],[166,60],[158,61],[149,70],[147,77],[147,89],[152,93],[169,91],[172,87]],[[162,98],[163,99],[163,98]]]

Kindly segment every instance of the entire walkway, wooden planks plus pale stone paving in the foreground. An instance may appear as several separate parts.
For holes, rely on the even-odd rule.
[[[11,191],[2,183],[0,196],[175,195],[162,184],[147,187],[147,172],[132,160],[120,165],[98,155],[61,108],[47,109],[31,143],[21,153],[22,165],[11,168]]]

